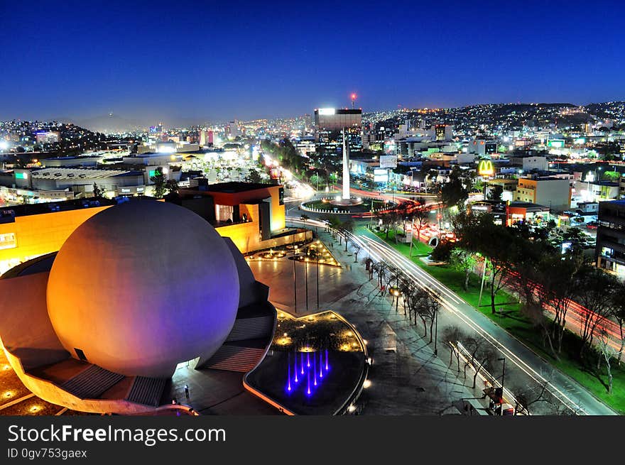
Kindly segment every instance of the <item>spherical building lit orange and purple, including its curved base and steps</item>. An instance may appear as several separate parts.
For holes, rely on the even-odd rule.
[[[276,327],[268,288],[190,209],[131,199],[41,216],[58,229],[48,243],[58,252],[0,279],[1,346],[39,398],[145,414],[168,407],[181,364],[247,372],[266,355]],[[240,390],[215,385],[224,398]]]

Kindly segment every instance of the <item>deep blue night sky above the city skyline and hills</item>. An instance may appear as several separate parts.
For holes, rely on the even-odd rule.
[[[619,100],[624,18],[588,0],[0,0],[0,119]]]

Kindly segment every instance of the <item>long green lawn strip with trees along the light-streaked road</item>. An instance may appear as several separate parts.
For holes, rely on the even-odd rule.
[[[393,232],[388,234],[373,233],[368,229],[362,229],[366,234],[377,234],[381,239],[384,239],[389,245],[396,248],[397,251],[408,256],[409,244],[395,244]],[[426,272],[432,275],[434,278],[443,283],[447,288],[456,292],[457,295],[462,297],[469,305],[472,305],[477,311],[489,317],[491,320],[499,324],[507,332],[512,334],[516,339],[523,341],[524,344],[531,347],[538,355],[543,359],[549,361],[553,366],[558,368],[563,373],[566,373],[571,378],[575,379],[578,383],[583,385],[587,390],[601,399],[604,403],[612,407],[614,410],[625,414],[625,363],[621,368],[616,366],[616,361],[612,361],[612,376],[614,376],[612,394],[607,392],[607,374],[605,367],[602,364],[600,375],[597,376],[595,371],[597,358],[594,354],[589,354],[586,363],[582,363],[578,359],[581,339],[577,334],[567,332],[562,344],[562,354],[560,359],[550,354],[543,347],[543,340],[540,332],[533,327],[532,323],[526,318],[520,311],[520,305],[518,300],[507,292],[499,291],[496,295],[495,305],[502,308],[504,311],[499,314],[493,314],[491,312],[490,305],[490,292],[488,289],[484,289],[482,295],[482,304],[478,306],[479,301],[479,285],[480,277],[473,274],[469,279],[469,290],[462,288],[464,281],[464,274],[460,271],[453,270],[447,266],[432,266],[423,263],[420,260],[420,256],[426,256],[432,248],[425,244],[413,245],[413,262],[420,268],[423,268]],[[418,253],[415,252],[415,248],[418,248]]]

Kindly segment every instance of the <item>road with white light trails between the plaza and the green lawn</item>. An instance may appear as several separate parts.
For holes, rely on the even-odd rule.
[[[288,221],[308,226],[325,227],[322,221],[309,219],[289,218]],[[435,290],[440,295],[441,308],[439,324],[447,320],[449,324],[458,327],[468,327],[473,332],[484,337],[489,344],[506,358],[506,379],[511,379],[512,373],[525,378],[527,381],[540,385],[547,383],[547,390],[553,398],[557,399],[570,409],[582,415],[617,415],[614,410],[582,388],[572,378],[561,373],[547,361],[535,354],[518,339],[513,338],[508,332],[492,322],[488,317],[477,312],[471,305],[464,302],[455,292],[442,285],[438,280],[429,275],[412,261],[369,230],[359,227],[357,234],[350,234],[350,240],[359,244],[362,251],[376,261],[384,261],[403,270],[415,283],[425,288]],[[443,325],[441,325],[443,327]],[[441,333],[439,333],[441,334]],[[512,373],[509,373],[513,371]],[[527,382],[525,381],[525,382]],[[511,385],[507,382],[506,385]]]

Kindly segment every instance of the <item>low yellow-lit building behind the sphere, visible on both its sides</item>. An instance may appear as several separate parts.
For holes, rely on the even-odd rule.
[[[198,185],[181,189],[171,201],[200,215],[241,253],[312,239],[311,231],[286,228],[281,185]],[[58,251],[80,224],[117,202],[77,199],[0,208],[0,273]]]

